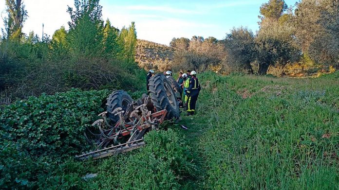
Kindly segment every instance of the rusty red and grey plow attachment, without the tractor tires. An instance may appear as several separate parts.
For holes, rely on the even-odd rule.
[[[143,104],[140,104],[141,102]],[[119,121],[115,125],[110,124],[107,111],[99,114],[102,119],[92,124],[94,130],[87,128],[84,133],[87,141],[92,143],[96,150],[75,157],[82,160],[98,159],[142,147],[145,144],[144,134],[151,129],[158,129],[158,125],[165,120],[166,109],[155,111],[150,97],[143,97],[129,104],[125,111],[121,107],[116,108],[113,113],[119,116]]]

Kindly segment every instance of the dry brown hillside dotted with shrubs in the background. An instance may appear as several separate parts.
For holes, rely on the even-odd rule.
[[[135,51],[135,61],[146,70],[163,71],[169,68],[174,56],[174,49],[155,42],[138,39]]]

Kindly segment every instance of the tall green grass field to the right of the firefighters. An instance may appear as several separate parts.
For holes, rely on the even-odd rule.
[[[199,155],[201,175],[189,184],[213,190],[339,189],[338,80],[200,78],[208,85],[198,115],[182,121]]]

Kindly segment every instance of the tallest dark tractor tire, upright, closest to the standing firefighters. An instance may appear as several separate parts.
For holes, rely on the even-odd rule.
[[[163,74],[156,74],[150,79],[149,92],[156,111],[167,110],[167,119],[179,118],[180,109],[171,83]]]

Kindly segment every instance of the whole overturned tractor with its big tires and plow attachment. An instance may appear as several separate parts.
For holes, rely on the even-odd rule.
[[[150,79],[150,94],[143,94],[137,101],[123,90],[114,91],[107,98],[107,111],[92,124],[94,130],[87,128],[84,133],[96,150],[75,157],[97,159],[143,146],[145,133],[158,129],[164,120],[179,118],[178,95],[172,83],[164,75],[156,74]]]

